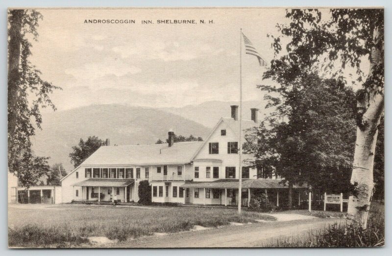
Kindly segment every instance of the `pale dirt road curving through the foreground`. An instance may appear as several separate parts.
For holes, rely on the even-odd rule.
[[[225,226],[204,231],[141,237],[112,246],[122,248],[260,247],[263,242],[269,241],[271,238],[303,235],[309,230],[320,230],[329,224],[340,221],[340,219],[308,219]]]

